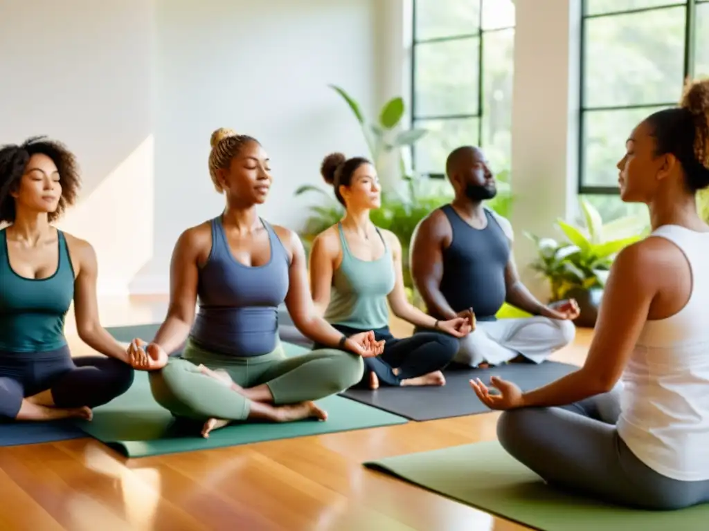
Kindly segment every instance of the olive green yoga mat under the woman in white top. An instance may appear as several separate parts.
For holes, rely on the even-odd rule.
[[[543,531],[709,529],[709,505],[633,510],[552,489],[498,442],[386,457],[364,466]]]

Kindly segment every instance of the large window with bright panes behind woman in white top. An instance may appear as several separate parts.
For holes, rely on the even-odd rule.
[[[625,212],[615,164],[635,125],[709,75],[709,0],[582,0],[579,193]],[[604,198],[605,196],[605,198]]]

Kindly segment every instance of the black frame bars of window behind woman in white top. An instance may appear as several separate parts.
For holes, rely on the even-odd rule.
[[[709,0],[685,0],[683,2],[686,8],[686,18],[685,18],[685,28],[684,28],[684,65],[683,65],[683,79],[678,79],[678,88],[681,89],[684,80],[691,78],[694,74],[694,62],[695,62],[695,49],[696,49],[696,6],[698,4],[707,4]],[[584,96],[585,96],[585,59],[586,59],[586,21],[594,18],[610,18],[620,15],[628,15],[632,13],[646,13],[649,11],[660,11],[662,9],[669,8],[679,8],[683,5],[682,3],[675,2],[674,4],[668,3],[661,6],[652,6],[645,8],[633,8],[625,9],[623,11],[611,11],[609,13],[596,13],[588,14],[588,0],[581,0],[581,32],[580,32],[580,46],[579,46],[579,145],[578,145],[578,159],[579,166],[577,169],[578,173],[578,193],[579,195],[619,195],[620,190],[618,186],[600,186],[600,185],[588,185],[584,183],[584,164],[586,161],[586,149],[584,147],[584,118],[586,113],[604,112],[609,110],[632,110],[632,109],[642,109],[642,108],[662,108],[662,107],[672,107],[677,105],[677,102],[657,102],[657,103],[641,103],[637,105],[602,105],[598,107],[585,107],[584,106]]]

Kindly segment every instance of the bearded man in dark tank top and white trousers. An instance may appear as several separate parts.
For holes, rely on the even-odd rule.
[[[546,360],[574,340],[578,305],[569,300],[549,307],[521,282],[512,226],[483,204],[497,188],[480,149],[454,149],[446,174],[454,200],[418,224],[411,244],[411,275],[428,313],[441,320],[468,316],[474,324],[459,340],[457,362],[486,367]],[[504,302],[532,317],[498,320]]]

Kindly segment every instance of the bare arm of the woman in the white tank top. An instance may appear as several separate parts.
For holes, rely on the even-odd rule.
[[[608,392],[623,374],[657,296],[661,261],[657,242],[627,247],[615,259],[603,292],[596,333],[584,366],[556,382],[523,394],[525,407],[561,406]],[[662,258],[666,261],[666,256]]]

